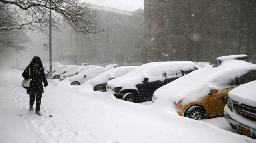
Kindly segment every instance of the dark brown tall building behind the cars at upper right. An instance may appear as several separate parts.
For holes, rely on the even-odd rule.
[[[255,2],[243,2],[144,0],[148,61],[213,62],[218,56],[248,54],[256,62]]]

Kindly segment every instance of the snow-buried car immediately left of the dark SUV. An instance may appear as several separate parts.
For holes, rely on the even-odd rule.
[[[125,75],[126,73],[138,68],[138,66],[121,66],[117,68],[110,69],[101,73],[100,75],[84,82],[92,85],[94,91],[106,91],[107,81],[114,78]]]

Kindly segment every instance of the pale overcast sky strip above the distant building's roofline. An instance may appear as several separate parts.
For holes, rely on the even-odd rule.
[[[135,11],[144,8],[144,0],[85,0],[90,4],[98,4],[110,8],[117,8],[127,11]]]

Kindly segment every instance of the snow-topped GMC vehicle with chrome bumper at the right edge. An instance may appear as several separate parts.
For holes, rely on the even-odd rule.
[[[232,128],[256,138],[256,81],[241,85],[228,93],[224,118]]]

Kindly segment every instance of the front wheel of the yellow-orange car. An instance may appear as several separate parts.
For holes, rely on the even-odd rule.
[[[200,106],[194,105],[186,111],[186,114],[184,116],[189,117],[189,118],[194,119],[194,120],[203,119],[204,109]]]

